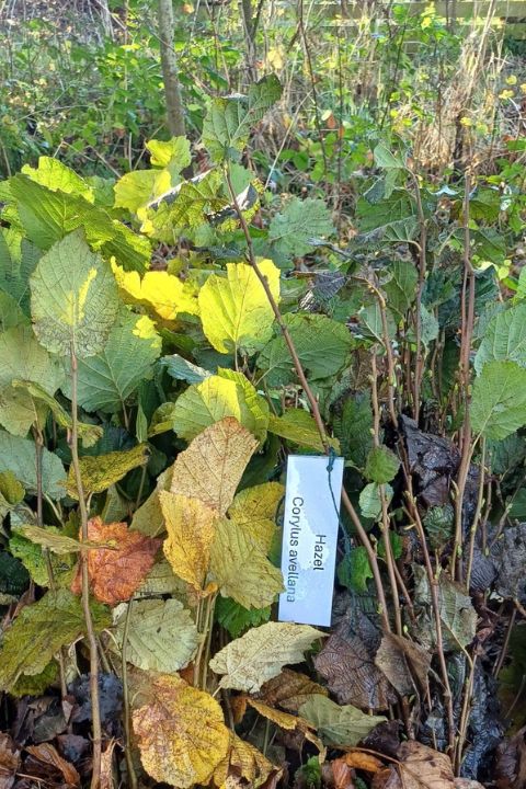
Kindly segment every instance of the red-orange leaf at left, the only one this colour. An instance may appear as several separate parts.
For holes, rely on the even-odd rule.
[[[161,540],[132,531],[125,523],[103,524],[100,517],[88,522],[88,538],[92,542],[116,547],[116,550],[101,548],[88,553],[88,573],[94,596],[108,605],[128,601],[150,571]],[[71,591],[80,594],[80,570]]]

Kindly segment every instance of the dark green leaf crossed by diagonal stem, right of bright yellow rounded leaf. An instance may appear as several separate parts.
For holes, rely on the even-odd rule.
[[[352,345],[348,330],[342,323],[322,315],[290,315],[284,317],[299,361],[311,380],[329,378],[345,364]],[[271,386],[290,384],[296,374],[290,353],[283,336],[277,336],[258,356],[258,367],[266,373]]]

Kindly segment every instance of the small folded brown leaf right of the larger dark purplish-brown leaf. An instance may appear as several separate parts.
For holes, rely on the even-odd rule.
[[[415,689],[425,693],[431,655],[424,647],[395,633],[384,633],[375,664],[401,696]]]

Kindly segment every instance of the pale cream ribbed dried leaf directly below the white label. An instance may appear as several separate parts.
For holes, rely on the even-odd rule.
[[[312,641],[324,633],[308,625],[266,622],[231,641],[210,661],[220,686],[254,691],[279,674],[287,663],[300,663]]]

